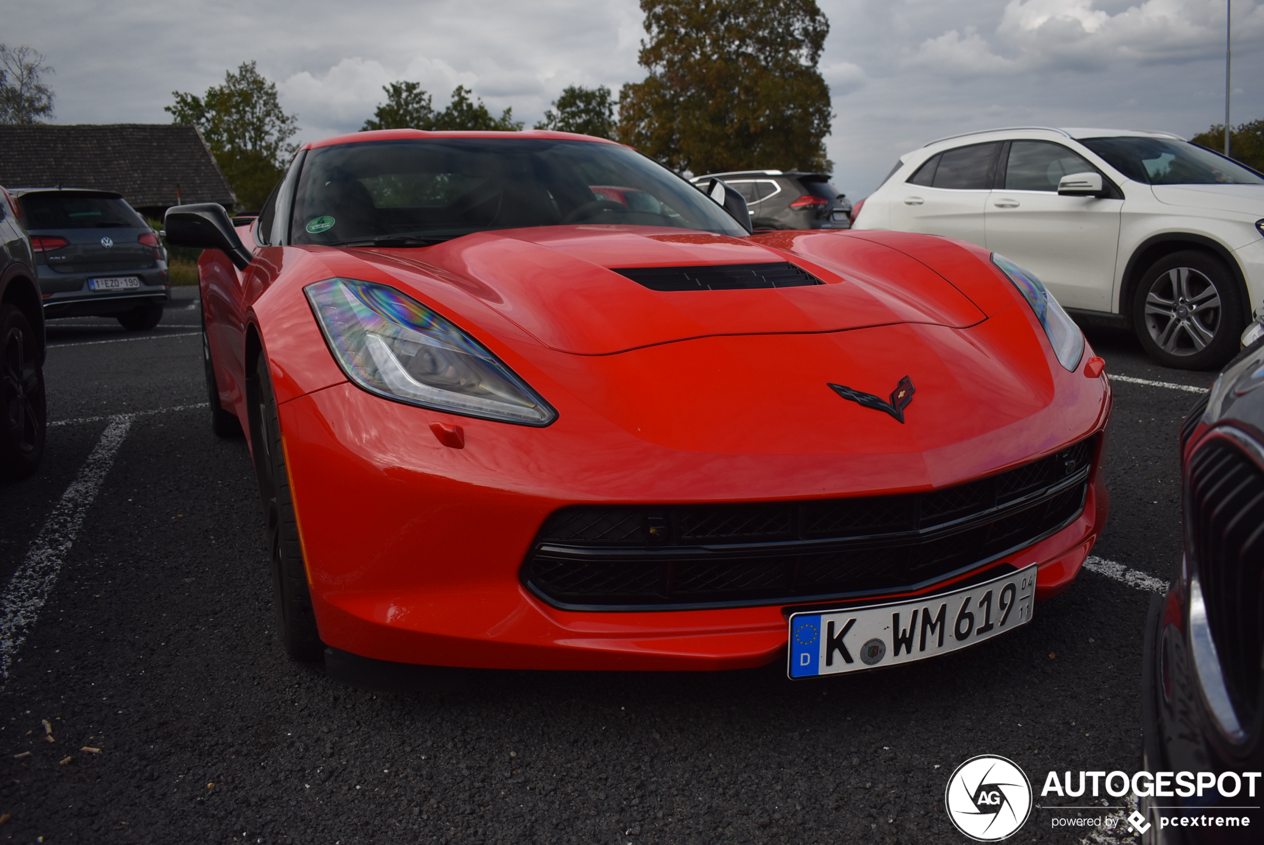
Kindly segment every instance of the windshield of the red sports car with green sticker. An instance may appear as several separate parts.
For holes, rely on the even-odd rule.
[[[295,196],[295,244],[423,246],[477,231],[568,224],[743,236],[700,191],[617,144],[427,138],[319,147]]]

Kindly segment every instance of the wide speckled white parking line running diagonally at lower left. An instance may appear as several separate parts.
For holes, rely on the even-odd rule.
[[[66,553],[75,544],[83,515],[96,499],[105,475],[114,466],[114,457],[126,438],[133,419],[134,414],[110,417],[110,424],[101,432],[92,453],[66,488],[0,596],[0,686],[9,681],[9,671],[18,659],[18,650],[57,584]]]

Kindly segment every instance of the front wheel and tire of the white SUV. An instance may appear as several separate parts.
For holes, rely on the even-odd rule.
[[[1141,277],[1133,327],[1146,354],[1164,366],[1218,369],[1237,352],[1246,308],[1224,261],[1186,250],[1159,259]]]

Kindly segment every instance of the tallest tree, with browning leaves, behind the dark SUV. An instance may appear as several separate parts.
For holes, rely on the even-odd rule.
[[[619,140],[694,173],[832,169],[829,21],[815,0],[641,0],[650,76],[619,92]]]

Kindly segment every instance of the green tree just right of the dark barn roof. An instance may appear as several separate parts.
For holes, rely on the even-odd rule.
[[[286,114],[277,99],[277,83],[262,76],[254,62],[228,71],[224,85],[201,97],[172,91],[174,105],[166,106],[172,123],[193,124],[215,154],[238,202],[259,208],[284,174],[297,145],[298,116]]]

